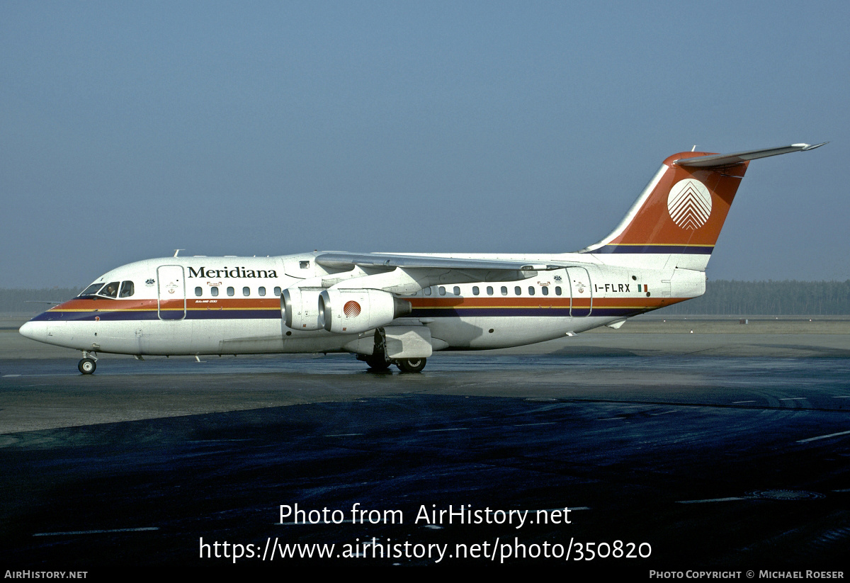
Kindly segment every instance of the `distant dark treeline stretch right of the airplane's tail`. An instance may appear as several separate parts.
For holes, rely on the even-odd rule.
[[[709,280],[702,297],[664,308],[663,314],[845,315],[850,314],[847,281]]]

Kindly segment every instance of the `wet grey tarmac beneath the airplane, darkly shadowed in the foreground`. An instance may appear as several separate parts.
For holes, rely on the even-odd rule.
[[[415,375],[367,372],[348,355],[103,355],[93,376],[81,376],[74,351],[8,325],[7,563],[101,575],[127,564],[259,569],[269,566],[260,547],[315,543],[340,556],[286,561],[549,561],[632,578],[650,569],[842,569],[847,322],[751,322],[636,322],[535,347],[435,354]],[[779,326],[793,330],[771,331]],[[347,519],[356,504],[398,511],[404,522],[280,524],[280,505],[294,504]],[[464,505],[535,517],[575,510],[570,524],[520,528],[416,520],[422,508]],[[205,555],[202,541],[257,556],[224,557],[224,546]],[[587,560],[588,548],[610,552],[616,541],[651,552]],[[354,558],[339,552],[344,545]],[[458,545],[487,557],[461,557]],[[379,548],[392,556],[377,557]],[[451,557],[416,556],[427,548]],[[534,555],[546,549],[553,556]]]

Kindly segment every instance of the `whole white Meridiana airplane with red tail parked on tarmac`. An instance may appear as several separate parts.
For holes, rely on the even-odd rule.
[[[668,157],[621,223],[579,252],[313,252],[129,263],[21,326],[39,342],[144,355],[348,352],[422,371],[435,350],[574,335],[699,297],[749,161],[823,144]]]

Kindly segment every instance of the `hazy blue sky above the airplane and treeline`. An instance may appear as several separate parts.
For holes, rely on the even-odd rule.
[[[0,2],[0,287],[338,249],[566,252],[754,161],[715,279],[847,280],[850,3]]]

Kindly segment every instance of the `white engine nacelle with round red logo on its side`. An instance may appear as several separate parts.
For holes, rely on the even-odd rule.
[[[325,330],[357,334],[411,313],[411,303],[383,290],[330,289],[319,294]]]

